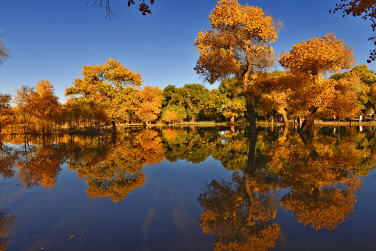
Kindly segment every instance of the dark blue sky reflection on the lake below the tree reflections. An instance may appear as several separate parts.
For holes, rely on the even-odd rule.
[[[348,137],[361,137],[354,134],[356,131],[354,128]],[[336,130],[338,132],[345,142],[345,130]],[[363,135],[366,132],[372,130],[366,128]],[[230,141],[232,146],[236,146],[246,140],[243,141],[243,137],[239,136],[221,138],[228,133],[231,133],[230,130],[222,130],[218,132],[219,137],[213,137],[216,133],[206,129],[191,132],[181,141],[179,137],[172,137],[169,147],[174,153],[171,156],[180,154],[179,158],[182,158],[183,154],[179,151],[184,149],[188,156],[186,158],[204,161],[193,164],[178,158],[175,162],[165,159],[153,165],[144,165],[144,185],[130,191],[125,199],[116,203],[108,197],[88,197],[85,192],[87,183],[77,177],[77,170],[68,169],[66,164],[61,166],[57,183],[50,189],[41,185],[26,189],[17,176],[1,180],[0,208],[8,208],[10,214],[17,217],[7,250],[213,250],[216,236],[202,232],[198,221],[204,209],[197,197],[213,179],[228,181],[232,174],[219,160],[227,156],[227,149],[223,151],[215,142],[218,139],[223,147],[224,141]],[[257,156],[260,157],[264,149],[268,149],[270,142],[282,136],[280,130],[275,133],[278,135],[260,132]],[[333,128],[322,129],[322,133],[332,135]],[[197,154],[195,149],[189,148],[190,144],[193,145],[193,135],[200,135],[194,143],[199,151]],[[203,135],[213,138],[204,139]],[[292,135],[294,132],[290,130],[287,139]],[[333,137],[336,138],[336,135]],[[270,142],[263,143],[261,139]],[[296,140],[301,142],[297,136]],[[374,138],[370,140],[374,141]],[[167,142],[163,137],[162,144],[166,152]],[[23,146],[18,149],[20,146],[16,146],[17,150],[22,150]],[[146,149],[149,146],[151,144],[142,145]],[[175,149],[173,146],[176,146]],[[245,149],[248,149],[247,146]],[[243,150],[239,155],[236,155],[236,149],[228,151],[232,151],[232,159],[226,160],[226,163],[236,163],[234,158],[246,154]],[[205,157],[207,154],[209,156]],[[195,158],[195,155],[200,158]],[[291,211],[278,208],[274,222],[280,226],[285,241],[277,241],[273,250],[373,250],[376,246],[376,215],[373,210],[376,207],[375,175],[373,170],[363,178],[362,188],[355,191],[357,201],[354,213],[340,223],[335,231],[317,231],[304,226],[297,222]],[[278,190],[277,198],[280,199],[287,192],[289,188]]]

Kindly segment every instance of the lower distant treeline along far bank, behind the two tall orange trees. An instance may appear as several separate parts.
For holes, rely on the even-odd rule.
[[[282,86],[287,79],[293,84],[286,77],[288,74],[276,70],[262,76],[264,89],[260,90],[261,95],[255,94],[254,104],[259,120],[269,121],[278,116],[288,123],[287,116],[305,116],[301,104],[315,97],[292,96],[286,89],[278,92],[276,86]],[[82,79],[75,79],[73,86],[66,89],[67,101],[63,104],[59,103],[53,85],[45,79],[34,87],[21,86],[14,97],[0,93],[1,128],[44,133],[61,127],[116,128],[119,123],[246,120],[246,100],[236,78],[223,79],[218,89],[212,90],[202,84],[141,89],[140,73],[133,73],[113,59],[99,66],[84,66],[82,75]],[[376,77],[368,66],[355,66],[327,81],[333,83],[333,89],[326,100],[317,100],[324,103],[317,111],[318,117],[339,120],[375,110]],[[269,86],[273,88],[269,90]]]

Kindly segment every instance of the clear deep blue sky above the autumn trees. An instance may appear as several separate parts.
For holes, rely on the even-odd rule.
[[[15,95],[20,86],[47,79],[64,102],[64,90],[82,77],[82,66],[105,63],[108,58],[141,73],[143,86],[204,84],[193,70],[199,56],[193,43],[201,29],[209,28],[208,15],[217,1],[156,0],[152,15],[146,16],[138,11],[139,0],[130,8],[128,0],[110,1],[120,18],[106,18],[105,9],[86,6],[87,0],[3,1],[0,39],[6,41],[11,57],[0,66],[0,91]],[[283,20],[285,27],[273,44],[276,54],[331,32],[354,48],[356,64],[366,63],[373,49],[368,41],[373,35],[370,22],[329,14],[339,1],[239,0]],[[376,63],[368,67],[376,70]]]

